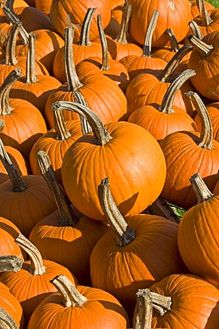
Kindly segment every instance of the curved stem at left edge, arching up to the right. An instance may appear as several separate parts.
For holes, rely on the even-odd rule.
[[[21,77],[21,69],[16,67],[12,72],[9,73],[8,77],[6,77],[5,81],[1,85],[0,88],[0,115],[7,115],[12,112],[12,108],[10,107],[10,99],[9,94],[12,86],[16,80]]]

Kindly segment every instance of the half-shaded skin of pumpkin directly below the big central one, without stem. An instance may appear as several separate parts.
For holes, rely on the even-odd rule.
[[[90,276],[92,287],[112,293],[132,315],[138,289],[184,272],[185,265],[177,247],[177,223],[143,214],[125,217],[125,221],[136,230],[135,239],[120,247],[116,234],[106,232],[92,250]]]

